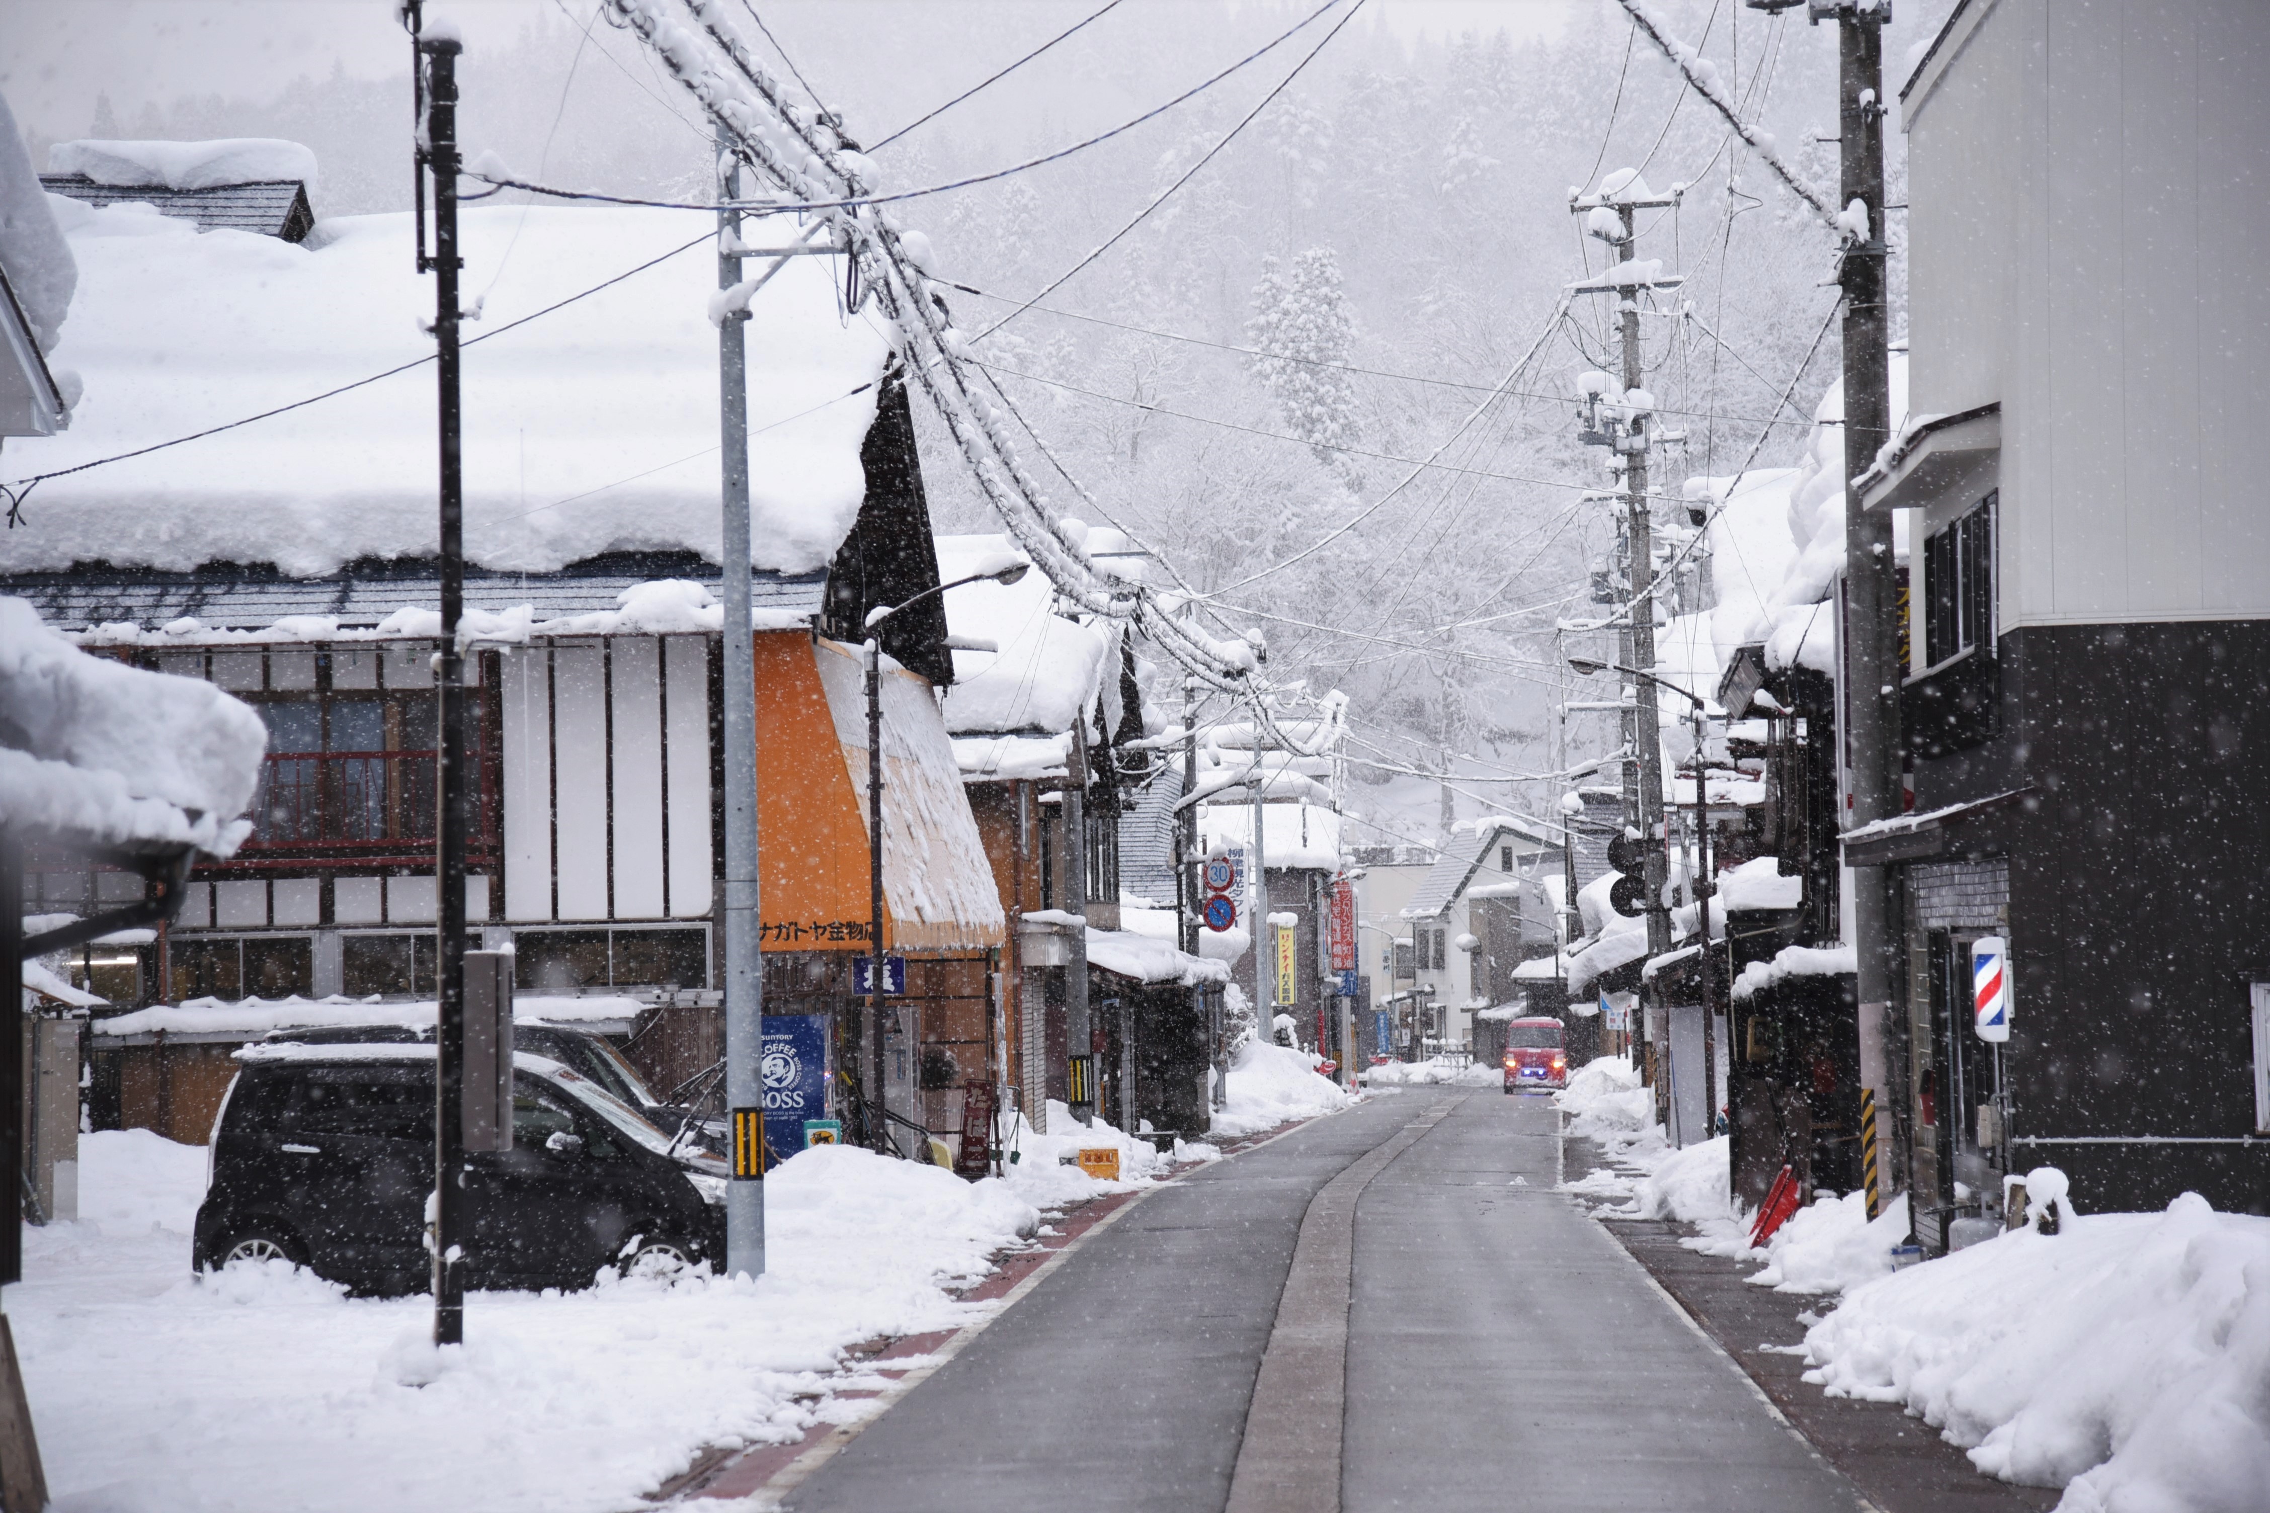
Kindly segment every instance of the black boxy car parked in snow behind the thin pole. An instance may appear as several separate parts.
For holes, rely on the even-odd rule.
[[[286,1259],[359,1293],[429,1282],[431,1043],[259,1043],[213,1121],[195,1266]],[[465,1284],[724,1263],[724,1161],[590,1077],[513,1057],[513,1148],[468,1157]]]

